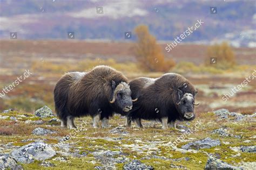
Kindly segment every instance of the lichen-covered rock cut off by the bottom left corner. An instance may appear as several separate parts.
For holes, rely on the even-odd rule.
[[[11,158],[8,154],[0,154],[0,169],[23,169],[17,161]]]

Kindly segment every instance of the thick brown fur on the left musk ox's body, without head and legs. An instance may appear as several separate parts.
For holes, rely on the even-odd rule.
[[[118,85],[127,83],[127,78],[108,66],[97,66],[87,73],[67,73],[57,82],[54,100],[57,115],[60,119],[68,116],[79,117],[101,114],[109,118],[113,112],[123,111],[111,104],[113,95],[112,81]]]

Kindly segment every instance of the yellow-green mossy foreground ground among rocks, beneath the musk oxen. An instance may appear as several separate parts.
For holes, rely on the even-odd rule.
[[[120,116],[114,116],[110,120],[111,128],[108,129],[93,129],[92,119],[90,117],[83,117],[76,119],[78,130],[68,130],[60,128],[59,122],[49,123],[50,118],[42,118],[44,124],[36,125],[33,123],[25,124],[28,120],[39,120],[33,114],[24,114],[19,112],[9,112],[8,114],[1,114],[2,116],[14,116],[18,118],[20,115],[25,115],[18,122],[10,121],[10,119],[0,120],[0,147],[5,148],[5,145],[11,144],[14,147],[23,146],[33,141],[44,140],[52,146],[58,144],[61,138],[66,135],[72,136],[64,143],[69,144],[69,153],[78,152],[79,154],[86,153],[84,157],[64,156],[61,153],[49,160],[55,167],[43,167],[40,164],[42,161],[35,161],[32,164],[21,164],[24,169],[93,169],[96,166],[103,166],[102,162],[95,158],[93,152],[97,151],[122,151],[124,157],[129,160],[138,159],[147,165],[153,166],[155,169],[171,169],[171,164],[183,166],[188,169],[204,169],[208,155],[218,155],[218,157],[232,165],[237,165],[239,162],[255,162],[255,153],[233,151],[230,147],[252,146],[256,145],[255,141],[255,118],[246,119],[244,121],[235,122],[232,118],[218,121],[218,117],[212,112],[200,114],[192,122],[178,122],[180,125],[193,128],[200,121],[200,126],[197,131],[193,131],[185,138],[186,141],[180,142],[177,146],[187,144],[189,141],[195,141],[210,137],[212,139],[220,139],[221,145],[208,149],[201,149],[197,153],[180,152],[170,149],[169,145],[176,141],[183,132],[176,129],[161,130],[161,124],[157,122],[143,121],[144,128],[130,128],[123,129],[127,133],[111,133],[110,130],[117,126],[123,126],[125,119]],[[83,128],[81,128],[83,126]],[[48,136],[35,136],[32,130],[35,128],[45,128],[54,130],[57,133]],[[218,134],[212,134],[212,130],[219,128],[226,128],[229,133],[240,135],[241,138],[220,137]],[[180,128],[179,128],[180,129]],[[244,141],[250,140],[246,143]],[[59,151],[58,148],[56,148]],[[10,153],[12,149],[4,149],[4,153]],[[158,158],[153,157],[158,156]],[[234,156],[236,155],[236,156]],[[64,157],[67,161],[62,162],[53,160],[57,157]],[[116,158],[118,155],[115,155]],[[165,157],[167,160],[159,157]],[[189,158],[188,160],[183,158]],[[175,159],[179,159],[176,161]],[[123,165],[115,164],[117,169],[122,169]],[[174,168],[175,169],[175,168]]]

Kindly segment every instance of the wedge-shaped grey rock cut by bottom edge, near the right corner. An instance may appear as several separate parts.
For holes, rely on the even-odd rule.
[[[210,169],[242,169],[242,168],[227,164],[226,162],[221,161],[220,159],[209,157],[206,162],[205,169],[210,170]]]

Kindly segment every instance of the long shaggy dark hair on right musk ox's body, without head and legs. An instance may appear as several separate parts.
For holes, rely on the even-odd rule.
[[[129,84],[132,98],[138,98],[128,114],[133,121],[138,118],[161,121],[163,117],[168,117],[169,123],[182,120],[176,107],[180,98],[178,89],[193,96],[197,93],[185,77],[175,73],[164,74],[158,79],[138,77]]]

